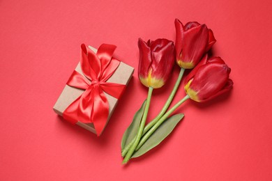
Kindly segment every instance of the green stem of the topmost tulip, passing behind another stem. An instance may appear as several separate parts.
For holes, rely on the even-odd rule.
[[[153,127],[153,125],[155,125],[155,123],[157,123],[157,121],[165,114],[165,112],[167,111],[169,105],[171,104],[174,95],[176,95],[176,90],[179,88],[179,84],[181,84],[181,79],[183,77],[183,73],[184,73],[185,69],[181,68],[181,71],[179,72],[179,77],[178,79],[176,79],[176,84],[174,85],[174,88],[171,92],[171,94],[169,95],[167,101],[165,102],[165,105],[163,106],[163,109],[160,111],[160,113],[158,113],[158,116],[156,116],[156,118],[154,118],[153,120],[151,120],[151,122],[146,125],[146,127],[144,127],[144,132],[143,135],[146,134],[146,132],[149,131],[149,129],[151,127]],[[128,150],[130,149],[131,145],[133,145],[133,143],[135,142],[136,137],[130,141],[130,143],[128,143],[128,145],[126,145],[126,147],[123,149],[122,151],[122,157],[125,157]]]

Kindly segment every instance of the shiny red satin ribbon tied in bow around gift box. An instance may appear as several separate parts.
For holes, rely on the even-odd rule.
[[[112,57],[115,49],[114,45],[103,44],[95,54],[82,44],[80,65],[84,76],[74,70],[66,83],[85,91],[66,108],[63,118],[73,124],[78,120],[93,123],[98,136],[109,116],[109,103],[105,93],[119,99],[125,88],[122,84],[106,82],[120,64],[120,61]]]

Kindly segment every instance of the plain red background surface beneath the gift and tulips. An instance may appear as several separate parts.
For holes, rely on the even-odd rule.
[[[271,1],[0,1],[0,180],[272,180]],[[186,118],[158,148],[121,165],[120,142],[146,97],[137,38],[174,40],[174,19],[206,23],[234,89]],[[103,136],[52,111],[80,60],[80,45],[117,45],[135,67]],[[149,120],[172,80],[155,91]],[[174,102],[183,97],[180,88]]]

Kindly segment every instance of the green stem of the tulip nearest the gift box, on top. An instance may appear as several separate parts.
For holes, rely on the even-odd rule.
[[[133,142],[133,145],[128,150],[128,153],[127,153],[126,157],[123,159],[123,164],[126,164],[128,162],[128,160],[130,159],[130,157],[133,155],[133,152],[135,151],[135,148],[137,147],[137,145],[139,143],[139,140],[142,137],[142,133],[144,131],[144,125],[146,124],[147,113],[149,112],[149,106],[150,106],[152,91],[153,91],[153,88],[149,87],[149,93],[147,95],[147,100],[146,100],[146,107],[144,108],[144,114],[142,116],[141,123],[139,124],[139,130],[137,132],[136,139]]]

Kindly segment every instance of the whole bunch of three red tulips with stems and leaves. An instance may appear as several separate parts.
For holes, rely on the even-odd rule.
[[[183,26],[179,19],[176,19],[174,24],[175,45],[167,39],[144,42],[139,38],[139,81],[148,87],[149,91],[142,107],[135,113],[133,122],[123,134],[121,141],[123,164],[148,152],[172,132],[184,114],[171,114],[183,102],[189,99],[206,102],[232,89],[233,82],[229,79],[230,68],[222,58],[209,57],[207,54],[216,42],[213,31],[198,22],[188,22]],[[153,89],[165,85],[175,61],[181,68],[176,84],[158,116],[146,125]],[[185,70],[190,70],[184,81],[186,96],[169,108]]]

